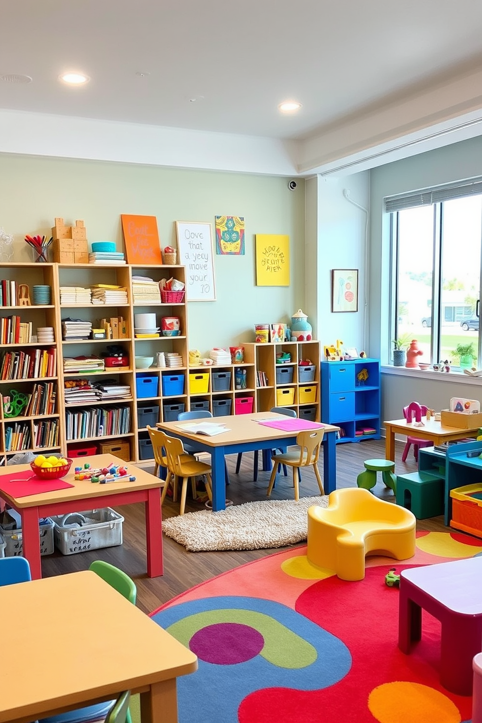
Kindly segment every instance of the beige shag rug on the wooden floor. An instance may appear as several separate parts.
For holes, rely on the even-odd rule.
[[[284,547],[306,540],[311,505],[328,506],[328,497],[262,500],[220,512],[199,510],[163,521],[163,532],[189,552]]]

